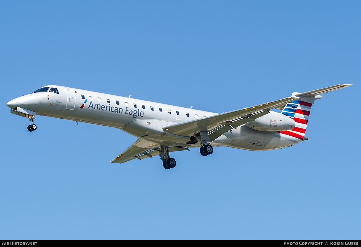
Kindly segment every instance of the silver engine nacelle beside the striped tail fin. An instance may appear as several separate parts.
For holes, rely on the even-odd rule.
[[[247,122],[244,125],[260,131],[282,131],[292,130],[296,123],[292,118],[270,111],[269,114],[259,117],[255,121]]]

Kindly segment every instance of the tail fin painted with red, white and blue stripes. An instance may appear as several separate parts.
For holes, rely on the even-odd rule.
[[[296,126],[292,130],[280,131],[280,133],[303,140],[306,133],[311,106],[311,103],[307,103],[302,100],[294,100],[288,103],[281,113],[295,120]]]

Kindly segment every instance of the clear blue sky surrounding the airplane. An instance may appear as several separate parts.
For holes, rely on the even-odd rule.
[[[360,1],[1,1],[0,239],[360,239]],[[63,85],[227,112],[337,84],[309,140],[109,163],[118,129],[10,114]]]

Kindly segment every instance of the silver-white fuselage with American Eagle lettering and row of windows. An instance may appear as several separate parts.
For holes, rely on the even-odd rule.
[[[56,88],[58,93],[49,92],[49,89],[47,92],[24,95],[10,101],[8,106],[27,109],[40,116],[115,127],[144,140],[182,147],[200,147],[200,143],[188,145],[186,143],[190,136],[173,135],[165,132],[162,127],[217,114],[70,87],[46,87]],[[286,120],[284,115],[272,111],[261,118],[268,120],[270,116],[275,121]],[[252,124],[249,126],[241,125],[230,129],[214,140],[212,145],[264,151],[302,142],[301,139],[283,135],[280,131],[257,130]]]

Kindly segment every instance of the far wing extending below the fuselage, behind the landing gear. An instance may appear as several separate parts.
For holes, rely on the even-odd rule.
[[[129,148],[126,149],[117,158],[110,161],[111,163],[124,163],[135,158],[143,160],[144,158],[157,156],[159,154],[160,144],[148,142],[143,139],[136,140]],[[188,150],[188,148],[169,147],[169,152]]]

